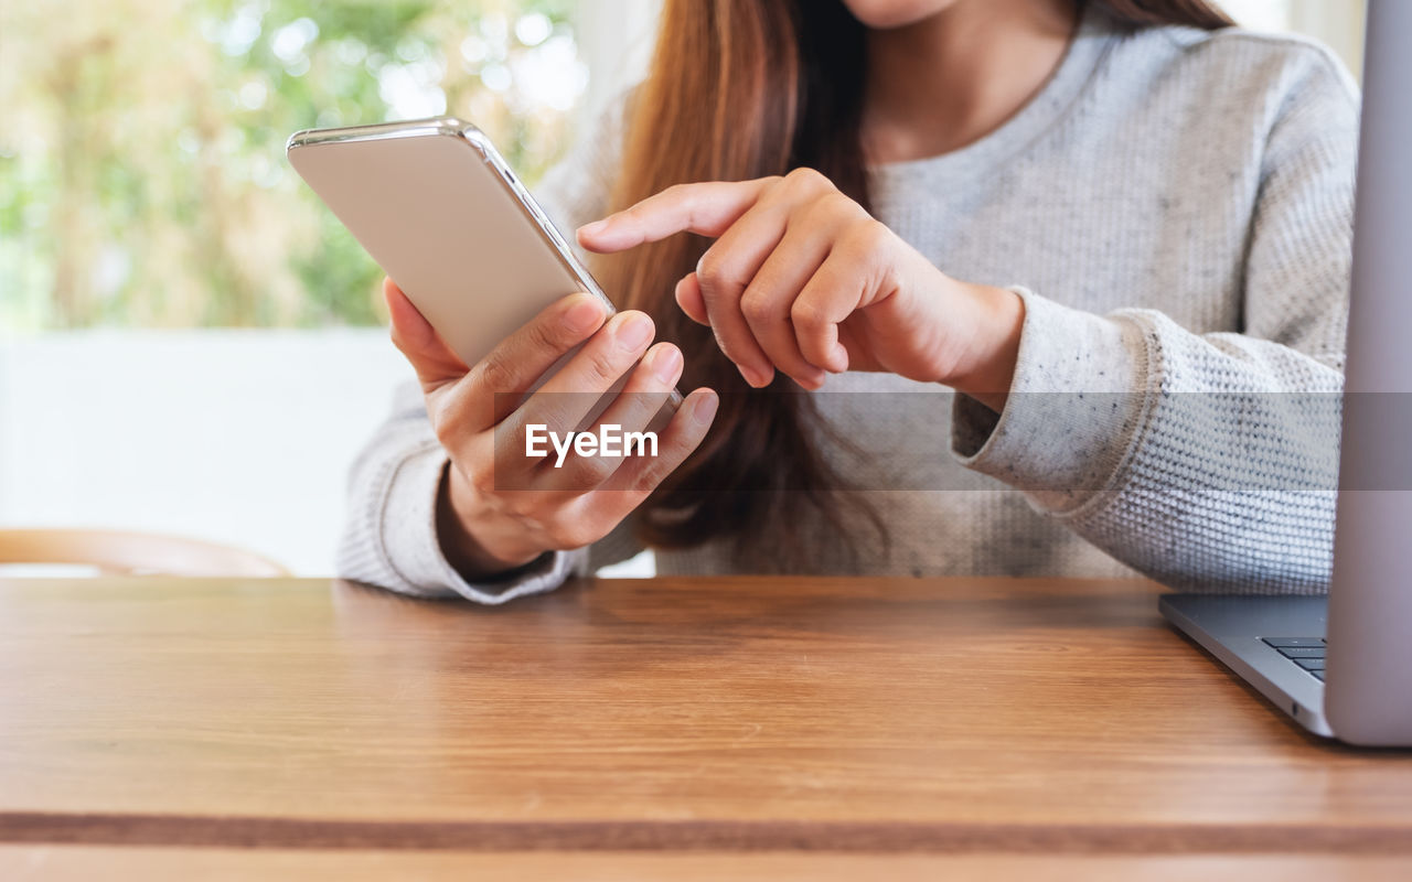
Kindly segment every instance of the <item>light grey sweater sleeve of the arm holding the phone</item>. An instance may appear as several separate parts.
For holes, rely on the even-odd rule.
[[[539,203],[561,227],[572,230],[604,210],[617,168],[621,113],[620,100],[535,188]],[[400,388],[391,415],[349,474],[336,556],[340,577],[418,597],[459,596],[500,604],[554,590],[572,574],[626,560],[640,550],[630,531],[620,526],[592,549],[546,552],[504,577],[469,581],[446,560],[436,535],[436,500],[448,467],[421,391],[415,384]]]

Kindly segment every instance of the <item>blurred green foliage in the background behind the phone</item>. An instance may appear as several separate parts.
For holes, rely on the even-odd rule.
[[[532,183],[586,80],[572,6],[0,3],[0,327],[380,320],[289,133],[452,113]]]

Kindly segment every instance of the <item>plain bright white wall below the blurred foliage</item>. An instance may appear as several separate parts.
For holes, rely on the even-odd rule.
[[[171,532],[332,573],[347,464],[405,380],[380,329],[0,344],[0,524]]]

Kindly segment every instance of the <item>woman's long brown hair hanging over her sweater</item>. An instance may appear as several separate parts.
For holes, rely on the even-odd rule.
[[[1132,27],[1233,21],[1204,0],[1096,3]],[[860,137],[866,28],[840,0],[666,0],[650,73],[634,93],[611,207],[674,183],[744,181],[812,167],[868,207]],[[681,346],[683,388],[722,392],[706,443],[640,509],[648,543],[683,548],[748,540],[806,502],[840,525],[843,484],[822,453],[827,426],[815,399],[784,377],[748,389],[710,329],[676,308],[676,281],[710,243],[672,238],[599,258],[596,272],[620,306],[650,313]],[[792,512],[791,512],[792,514]],[[874,518],[874,524],[877,519]],[[802,559],[806,549],[778,549]]]

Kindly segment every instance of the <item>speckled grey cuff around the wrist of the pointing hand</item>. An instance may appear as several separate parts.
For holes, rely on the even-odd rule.
[[[1145,334],[1132,322],[1012,291],[1025,320],[1005,408],[997,415],[957,395],[952,453],[1041,509],[1072,511],[1113,485],[1132,449],[1148,409]]]

